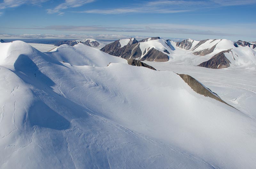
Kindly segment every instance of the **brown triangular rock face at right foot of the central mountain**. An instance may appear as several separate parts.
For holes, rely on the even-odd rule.
[[[160,52],[155,48],[151,48],[146,55],[144,55],[141,61],[155,61],[155,62],[167,62],[169,60],[169,56]]]

